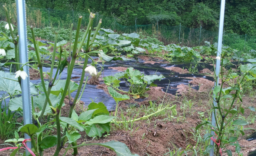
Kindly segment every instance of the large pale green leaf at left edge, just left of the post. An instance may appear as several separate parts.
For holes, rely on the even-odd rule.
[[[0,91],[8,92],[11,95],[19,94],[21,92],[19,82],[8,80],[8,79],[18,81],[18,78],[15,78],[15,75],[10,72],[0,71]]]

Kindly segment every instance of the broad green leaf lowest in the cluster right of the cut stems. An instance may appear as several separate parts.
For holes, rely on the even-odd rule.
[[[86,127],[86,134],[90,137],[99,136],[102,137],[102,134],[105,132],[110,132],[110,124],[92,124],[91,126]]]

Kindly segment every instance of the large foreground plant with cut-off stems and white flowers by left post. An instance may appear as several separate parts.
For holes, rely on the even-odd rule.
[[[8,19],[8,24],[10,26],[10,17],[8,16],[8,11],[6,10],[6,16]],[[90,12],[90,11],[89,11]],[[31,61],[27,62],[24,65],[29,65],[29,63],[35,63],[33,66],[38,66],[40,71],[40,77],[41,77],[41,83],[37,85],[38,90],[41,90],[44,93],[40,93],[37,96],[32,97],[32,116],[34,124],[26,124],[25,126],[21,126],[19,128],[20,132],[24,132],[30,136],[31,139],[25,139],[22,141],[22,144],[18,144],[17,147],[10,147],[10,148],[4,148],[0,149],[7,150],[7,149],[15,149],[11,155],[15,155],[16,152],[23,145],[28,149],[28,152],[32,156],[43,156],[44,149],[56,146],[56,150],[54,153],[54,156],[58,156],[60,150],[62,148],[66,149],[73,149],[74,155],[78,154],[77,148],[80,146],[88,146],[88,145],[100,145],[107,148],[110,148],[114,150],[117,155],[127,155],[127,156],[138,156],[137,154],[132,154],[128,147],[121,143],[116,141],[110,141],[106,143],[94,143],[94,144],[85,144],[82,143],[80,145],[77,145],[77,140],[81,137],[81,135],[78,133],[79,131],[86,131],[88,136],[102,136],[102,133],[109,132],[110,131],[110,121],[112,121],[114,116],[109,116],[109,112],[106,109],[106,106],[103,103],[94,103],[92,102],[89,106],[87,111],[82,112],[80,116],[76,114],[74,111],[74,107],[79,102],[86,85],[84,85],[84,88],[82,89],[82,84],[85,76],[85,72],[88,71],[90,74],[97,74],[97,71],[94,66],[91,66],[90,68],[87,67],[88,58],[90,58],[90,54],[99,53],[103,48],[108,48],[112,45],[107,45],[102,47],[102,45],[98,42],[94,42],[94,39],[98,33],[98,30],[100,29],[101,20],[94,32],[94,35],[91,38],[91,32],[92,32],[92,22],[94,19],[95,14],[90,12],[89,16],[89,23],[87,26],[86,31],[84,32],[84,35],[82,37],[82,40],[80,42],[78,41],[79,33],[80,33],[80,27],[82,22],[82,16],[78,19],[78,26],[76,30],[76,37],[75,40],[72,40],[72,26],[70,27],[70,42],[69,46],[64,48],[64,46],[60,45],[57,46],[57,38],[58,34],[55,34],[55,42],[54,42],[54,50],[52,52],[52,60],[51,60],[51,68],[49,72],[49,81],[44,81],[43,76],[43,62],[41,60],[40,56],[40,42],[35,39],[33,28],[31,27],[32,32],[32,45],[34,47],[34,51],[36,53],[37,61]],[[11,26],[10,26],[11,28]],[[18,37],[14,38],[12,29],[10,29],[12,34],[12,39],[15,45],[15,56],[16,56],[16,63],[12,62],[14,64],[17,64],[17,72],[16,77],[11,77],[8,80],[14,80],[16,78],[22,78],[25,79],[27,74],[23,73],[22,67],[20,67],[20,64],[18,63],[19,58],[18,56],[18,47],[17,47],[17,41]],[[87,38],[87,40],[86,40]],[[17,41],[16,41],[17,40]],[[85,42],[86,41],[86,42]],[[91,51],[91,47],[93,44],[98,44],[100,47],[98,50]],[[116,46],[122,46],[124,43],[116,44]],[[84,52],[80,52],[82,46],[86,47]],[[59,52],[58,60],[55,60],[56,51]],[[16,55],[17,54],[17,55]],[[74,69],[74,64],[76,62],[76,59],[78,57],[84,57],[84,64],[83,64],[83,70],[82,70],[82,76],[81,81],[79,84],[76,84],[72,81],[71,75]],[[62,60],[62,58],[64,60]],[[4,65],[9,65],[9,62],[6,62]],[[55,76],[53,78],[53,69],[57,66],[57,70],[55,73]],[[67,66],[67,78],[66,80],[56,80],[58,73],[61,73],[62,70]],[[91,69],[92,68],[92,69]],[[10,73],[8,73],[10,74]],[[86,82],[88,80],[88,77],[86,78]],[[85,84],[86,84],[85,82]],[[16,82],[14,82],[16,83]],[[71,92],[74,90],[77,90],[76,96],[72,100]],[[80,95],[80,93],[82,94]],[[60,116],[61,109],[64,103],[65,96],[68,95],[69,98],[69,105],[70,105],[70,111],[68,114],[68,117]],[[12,98],[10,100],[10,110],[16,111],[20,110],[22,111],[22,101],[21,97],[19,98]],[[39,110],[39,111],[36,111]],[[45,115],[48,114],[48,122],[44,122]],[[44,130],[48,128],[56,128],[56,136],[42,136],[42,133]],[[26,146],[26,142],[31,141],[32,143],[32,149],[28,148]]]

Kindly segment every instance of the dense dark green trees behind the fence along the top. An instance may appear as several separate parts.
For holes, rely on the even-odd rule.
[[[14,0],[12,0],[14,1]],[[3,0],[8,2],[8,0]],[[98,12],[116,17],[122,25],[180,22],[186,27],[206,30],[218,28],[220,0],[26,0],[28,6],[56,10]],[[256,34],[256,0],[226,0],[224,29],[238,34]]]

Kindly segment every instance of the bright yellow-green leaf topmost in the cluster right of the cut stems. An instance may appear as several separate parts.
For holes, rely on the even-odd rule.
[[[96,102],[92,102],[88,105],[88,110],[94,110],[94,113],[92,114],[92,116],[95,116],[96,114],[98,115],[109,115],[109,112],[108,112],[108,109],[107,107],[102,103],[102,102],[99,102],[99,103],[96,103]]]

